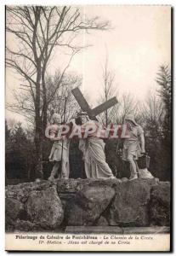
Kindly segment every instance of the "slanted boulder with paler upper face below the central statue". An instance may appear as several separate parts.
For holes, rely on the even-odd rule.
[[[115,189],[106,183],[93,182],[80,189],[74,200],[66,204],[68,225],[91,225],[111,203]]]

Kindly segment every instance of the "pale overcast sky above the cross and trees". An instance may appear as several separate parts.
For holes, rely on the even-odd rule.
[[[145,100],[150,89],[156,88],[156,73],[171,58],[171,9],[169,6],[84,6],[84,15],[110,20],[108,32],[82,32],[80,44],[91,44],[75,55],[70,72],[82,75],[82,91],[93,106],[102,91],[102,68],[107,52],[109,67],[115,73],[119,93],[130,92]],[[60,59],[62,65],[60,66]],[[64,67],[67,56],[57,49],[50,61],[49,71]],[[14,74],[7,72],[6,99],[13,102],[12,89],[19,84]],[[11,118],[14,113],[7,112]],[[17,117],[16,117],[17,118]],[[20,119],[18,116],[17,119]]]

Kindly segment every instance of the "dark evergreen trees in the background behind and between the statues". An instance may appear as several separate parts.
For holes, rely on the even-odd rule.
[[[156,74],[157,96],[150,96],[145,108],[140,108],[136,119],[145,130],[145,149],[150,155],[150,172],[161,180],[170,180],[172,172],[172,86],[169,67],[162,66]],[[161,100],[161,102],[158,101]],[[149,106],[150,108],[147,108]],[[151,108],[155,106],[155,108]],[[158,108],[156,108],[156,106]],[[129,109],[130,110],[130,109]],[[133,109],[129,111],[133,113]],[[106,117],[105,117],[105,120]],[[9,128],[5,124],[6,138],[6,178],[17,182],[34,180],[37,166],[36,149],[33,135],[25,131],[21,124]],[[43,177],[48,178],[52,164],[48,155],[52,143],[43,140]],[[105,140],[106,160],[116,177],[128,177],[128,165],[122,162],[120,140]],[[78,149],[78,141],[71,141],[70,146],[70,177],[85,178],[82,153]]]

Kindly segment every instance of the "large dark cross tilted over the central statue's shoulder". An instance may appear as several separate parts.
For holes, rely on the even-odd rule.
[[[93,120],[97,120],[96,116],[99,113],[104,112],[105,110],[107,110],[108,108],[113,107],[117,103],[116,96],[115,96],[115,97],[111,98],[110,100],[100,104],[98,107],[91,109],[88,105],[88,102],[86,101],[86,99],[82,95],[81,90],[79,90],[78,87],[71,90],[71,92],[72,92],[73,96],[75,96],[75,98],[77,100],[77,103],[79,104],[80,108],[82,108],[82,111],[87,112],[88,117],[90,119],[93,119]]]

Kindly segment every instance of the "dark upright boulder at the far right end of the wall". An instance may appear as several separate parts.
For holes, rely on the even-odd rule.
[[[149,214],[150,224],[170,225],[170,183],[160,182],[151,188]]]

